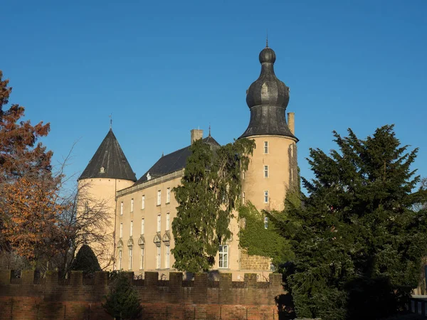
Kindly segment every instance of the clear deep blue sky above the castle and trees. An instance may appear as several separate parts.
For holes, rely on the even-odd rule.
[[[0,69],[10,102],[50,122],[43,143],[79,175],[110,127],[137,178],[187,146],[246,129],[246,89],[265,46],[290,87],[302,176],[332,130],[396,124],[427,176],[427,1],[2,1]],[[76,177],[77,178],[77,177]]]

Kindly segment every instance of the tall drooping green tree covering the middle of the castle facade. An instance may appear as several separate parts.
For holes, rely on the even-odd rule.
[[[219,245],[231,238],[228,224],[241,194],[240,174],[248,168],[254,144],[239,139],[216,149],[203,140],[191,145],[181,186],[174,188],[179,203],[172,222],[176,269],[209,270]]]

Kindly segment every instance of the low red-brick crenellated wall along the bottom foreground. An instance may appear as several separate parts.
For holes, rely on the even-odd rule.
[[[133,278],[133,272],[127,274]],[[33,284],[33,276],[25,271],[20,284],[11,284],[11,271],[0,270],[0,320],[111,319],[101,306],[109,292],[106,272],[96,272],[93,285],[83,284],[81,272],[72,272],[68,285],[58,284],[58,272],[49,272],[43,284]],[[179,272],[171,272],[168,281],[158,277],[146,272],[143,281],[135,282],[141,319],[278,320],[280,274],[270,274],[270,282],[257,282],[256,274],[245,274],[243,282],[232,282],[227,273],[218,282],[209,281],[207,274],[196,275],[194,282],[183,282]]]

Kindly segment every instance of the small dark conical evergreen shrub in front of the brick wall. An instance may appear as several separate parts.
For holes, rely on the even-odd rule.
[[[117,320],[137,319],[141,316],[141,299],[124,272],[117,274],[102,307]]]

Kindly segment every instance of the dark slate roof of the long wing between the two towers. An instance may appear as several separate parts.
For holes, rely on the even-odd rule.
[[[211,146],[220,146],[220,144],[218,144],[218,142],[216,142],[216,140],[211,136],[203,139],[203,142],[211,144]],[[164,176],[165,174],[170,174],[174,171],[184,169],[186,159],[190,154],[190,146],[186,146],[183,149],[172,152],[172,154],[162,156],[157,160],[154,166],[152,166],[145,174],[142,175],[141,178],[138,179],[135,185],[148,181],[147,174],[149,174],[151,178],[158,178],[159,176]]]

